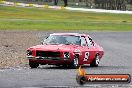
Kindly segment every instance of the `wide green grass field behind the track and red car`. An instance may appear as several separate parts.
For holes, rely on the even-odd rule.
[[[0,6],[0,30],[132,31],[132,15]]]

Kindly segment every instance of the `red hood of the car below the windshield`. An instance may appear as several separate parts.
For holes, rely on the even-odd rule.
[[[75,48],[78,48],[78,45],[37,45],[30,47],[29,49],[35,49],[40,51],[71,51]]]

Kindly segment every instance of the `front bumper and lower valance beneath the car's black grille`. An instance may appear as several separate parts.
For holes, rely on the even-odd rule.
[[[64,65],[70,64],[70,58],[46,58],[46,57],[27,57],[30,62],[39,63],[39,64],[49,64],[49,65]]]

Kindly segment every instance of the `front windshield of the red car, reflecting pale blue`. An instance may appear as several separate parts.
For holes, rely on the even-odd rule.
[[[80,45],[80,36],[71,35],[50,35],[43,44],[66,44]]]

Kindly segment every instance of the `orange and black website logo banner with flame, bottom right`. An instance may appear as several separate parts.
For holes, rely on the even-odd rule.
[[[76,81],[80,85],[86,83],[130,83],[131,76],[129,74],[87,74],[84,69],[79,67]]]

